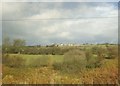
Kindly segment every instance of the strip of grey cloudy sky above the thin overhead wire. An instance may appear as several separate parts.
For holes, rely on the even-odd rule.
[[[107,16],[111,17],[111,15],[109,16],[111,11],[112,12],[117,11],[117,9],[114,10],[113,5],[111,5],[111,3],[83,3],[83,2],[3,3],[4,20],[26,18],[46,19],[46,17],[48,17],[49,15],[53,16],[50,16],[48,18],[61,18],[61,17],[79,18],[79,17],[107,17]],[[62,13],[64,13],[64,15]],[[116,12],[113,12],[112,14],[113,16],[117,16]]]

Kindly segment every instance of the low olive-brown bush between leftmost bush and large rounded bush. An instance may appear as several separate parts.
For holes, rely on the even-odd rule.
[[[49,66],[50,57],[44,56],[44,57],[38,57],[31,59],[31,64],[29,64],[30,67],[47,67]]]

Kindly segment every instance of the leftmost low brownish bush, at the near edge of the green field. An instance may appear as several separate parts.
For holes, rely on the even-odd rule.
[[[24,67],[25,60],[20,56],[9,56],[8,54],[3,55],[3,64],[8,67]]]

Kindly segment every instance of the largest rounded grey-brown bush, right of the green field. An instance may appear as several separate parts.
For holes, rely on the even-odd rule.
[[[70,50],[64,54],[63,63],[55,63],[53,66],[65,73],[82,71],[86,67],[85,53],[77,49]]]

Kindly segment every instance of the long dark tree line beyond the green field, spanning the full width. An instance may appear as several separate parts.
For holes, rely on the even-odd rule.
[[[105,54],[116,54],[117,55],[117,46],[116,45],[84,45],[84,46],[55,46],[55,45],[46,45],[46,46],[27,46],[26,41],[23,39],[14,39],[10,40],[9,38],[4,38],[2,43],[2,53],[12,53],[12,54],[32,54],[32,55],[64,55],[66,52],[74,49],[87,51],[90,48],[90,51],[93,54],[96,54],[99,49],[100,52],[104,51]]]

